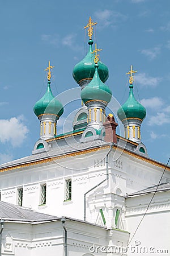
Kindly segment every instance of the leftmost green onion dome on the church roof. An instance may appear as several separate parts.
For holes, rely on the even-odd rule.
[[[63,106],[61,102],[56,100],[56,98],[53,96],[50,88],[50,81],[48,81],[46,93],[39,101],[36,102],[33,111],[37,117],[45,113],[57,115],[59,118],[63,114]]]

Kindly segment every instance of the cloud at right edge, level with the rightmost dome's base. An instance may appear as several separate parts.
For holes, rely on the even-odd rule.
[[[164,112],[158,112],[156,115],[153,115],[152,117],[149,118],[148,125],[153,126],[153,125],[164,125],[165,123],[170,123],[170,117],[168,114]]]

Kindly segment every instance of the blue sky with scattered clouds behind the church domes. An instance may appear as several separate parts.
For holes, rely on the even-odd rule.
[[[83,27],[89,16],[97,22],[94,40],[109,68],[107,85],[120,104],[128,98],[133,64],[134,94],[146,107],[142,142],[148,155],[169,158],[170,2],[169,0],[4,1],[0,10],[0,162],[30,155],[39,138],[33,106],[45,93],[44,69],[53,69],[56,96],[79,88],[74,65],[87,52]],[[77,89],[80,93],[80,90]],[[67,93],[67,97],[70,94]],[[71,99],[70,99],[71,101]],[[62,124],[80,100],[65,106]],[[69,121],[68,121],[69,120]],[[71,125],[72,120],[67,118]]]

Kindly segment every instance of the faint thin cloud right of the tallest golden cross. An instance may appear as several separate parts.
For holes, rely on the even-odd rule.
[[[118,22],[120,23],[127,19],[126,15],[108,9],[96,11],[95,17],[102,28],[109,26],[115,27]]]

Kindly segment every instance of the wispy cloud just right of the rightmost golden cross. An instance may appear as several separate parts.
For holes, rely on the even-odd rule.
[[[149,86],[154,88],[159,84],[161,80],[161,77],[151,77],[148,76],[146,73],[138,73],[137,75],[135,75],[135,81],[138,82],[138,84],[146,87]]]

